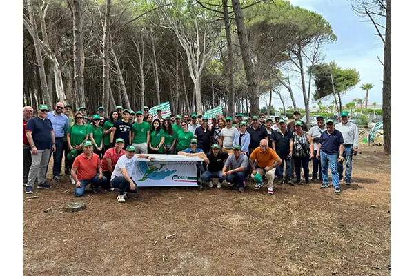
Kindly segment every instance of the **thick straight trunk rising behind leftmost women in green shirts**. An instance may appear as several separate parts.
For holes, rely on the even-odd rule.
[[[83,30],[82,30],[82,0],[72,0],[73,3],[73,64],[75,79],[75,100],[77,107],[85,106],[85,88],[83,84]]]

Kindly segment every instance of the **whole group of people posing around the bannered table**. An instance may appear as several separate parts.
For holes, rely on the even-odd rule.
[[[317,126],[308,130],[299,120],[287,123],[281,117],[265,119],[263,114],[221,117],[209,123],[202,115],[171,115],[163,118],[161,110],[149,113],[148,106],[134,112],[117,106],[105,115],[105,108],[88,117],[81,106],[73,115],[70,104],[56,103],[53,110],[45,104],[37,109],[23,108],[23,184],[26,193],[37,188],[50,188],[46,182],[48,163],[53,155],[53,180],[64,170],[75,185],[75,195],[84,194],[86,186],[92,192],[119,189],[117,200],[124,202],[126,192],[136,192],[132,180],[135,161],[155,159],[155,154],[178,154],[204,159],[199,166],[201,179],[217,188],[223,182],[244,192],[248,175],[259,189],[267,180],[268,193],[273,194],[273,182],[279,184],[309,184],[309,161],[313,161],[312,181],[328,187],[328,166],[331,168],[335,193],[340,193],[343,162],[346,163],[346,184],[351,184],[352,156],[357,152],[357,126],[342,112],[342,122],[334,126],[330,119],[317,117]],[[296,175],[296,177],[295,177]],[[293,178],[295,177],[295,181]]]

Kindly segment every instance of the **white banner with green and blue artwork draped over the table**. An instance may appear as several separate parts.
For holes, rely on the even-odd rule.
[[[199,157],[182,155],[151,155],[155,161],[138,159],[132,180],[139,187],[197,186],[197,162]]]

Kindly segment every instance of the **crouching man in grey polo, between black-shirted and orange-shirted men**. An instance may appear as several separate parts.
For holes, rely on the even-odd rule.
[[[248,158],[242,154],[240,146],[233,146],[233,155],[227,158],[222,173],[223,181],[233,183],[234,188],[239,188],[239,192],[244,192],[244,179],[248,175]],[[230,170],[227,170],[230,168]]]

